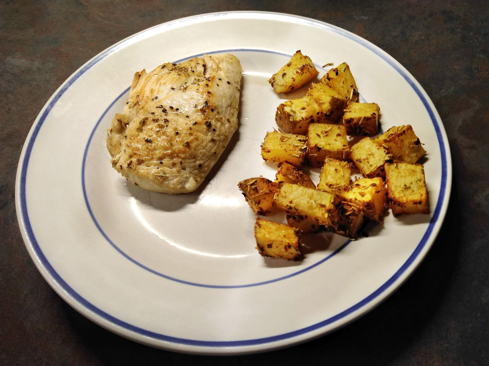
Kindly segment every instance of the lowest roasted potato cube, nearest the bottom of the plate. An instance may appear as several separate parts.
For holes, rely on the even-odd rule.
[[[302,259],[300,237],[301,232],[293,227],[256,219],[256,248],[263,257],[300,261]]]

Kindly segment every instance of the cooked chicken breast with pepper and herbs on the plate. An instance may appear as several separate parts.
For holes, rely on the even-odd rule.
[[[107,131],[112,166],[150,191],[197,189],[238,126],[241,71],[226,54],[136,72]]]

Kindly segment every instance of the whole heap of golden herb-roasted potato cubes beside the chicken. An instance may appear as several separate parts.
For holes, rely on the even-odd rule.
[[[311,59],[297,51],[269,82],[284,93],[316,75]],[[256,220],[256,248],[262,256],[300,261],[301,234],[327,230],[356,240],[365,223],[383,223],[389,208],[394,216],[429,212],[424,167],[416,164],[426,153],[420,139],[410,125],[375,137],[380,107],[358,98],[355,79],[343,62],[321,82],[311,83],[304,97],[278,106],[280,132],[267,132],[261,145],[262,158],[278,163],[275,182],[259,177],[239,183],[257,214],[265,215],[272,206],[285,212],[288,225]],[[352,143],[348,136],[367,137]],[[317,187],[299,169],[306,165],[321,167]],[[352,183],[355,168],[364,178]]]

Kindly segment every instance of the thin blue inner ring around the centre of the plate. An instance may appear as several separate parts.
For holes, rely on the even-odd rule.
[[[215,53],[226,53],[226,52],[243,52],[243,51],[252,51],[252,52],[264,52],[264,53],[272,53],[272,54],[278,54],[278,55],[282,55],[282,56],[286,56],[286,57],[292,57],[292,55],[288,55],[288,54],[284,54],[284,53],[281,53],[281,52],[275,52],[275,51],[267,51],[267,50],[258,50],[258,49],[230,49],[230,50],[219,50],[219,51],[212,51],[212,52],[206,52],[207,55],[210,55],[210,54],[215,54]],[[194,56],[191,56],[191,57],[188,57],[188,58],[185,58],[185,59],[181,59],[181,60],[178,60],[178,61],[175,61],[175,63],[178,63],[178,62],[182,62],[182,61],[185,61],[185,60],[189,60],[189,59],[192,59],[194,57],[199,57],[199,56],[202,56],[203,54],[199,54],[199,55],[194,55]],[[318,68],[321,68],[321,66],[319,65],[316,65]],[[286,280],[290,277],[294,277],[294,276],[297,276],[301,273],[304,273],[316,266],[318,266],[319,264],[322,264],[324,262],[326,262],[327,260],[329,260],[330,258],[332,258],[334,255],[336,255],[337,253],[339,253],[341,250],[343,250],[348,244],[351,243],[350,240],[347,240],[345,243],[343,243],[341,246],[339,246],[336,250],[333,251],[333,253],[329,254],[328,256],[326,256],[325,258],[321,259],[320,261],[314,263],[314,264],[311,264],[309,267],[306,267],[306,268],[303,268],[299,271],[296,271],[296,272],[293,272],[293,273],[290,273],[286,276],[282,276],[282,277],[279,277],[279,278],[275,278],[275,279],[272,279],[272,280],[268,280],[268,281],[263,281],[263,282],[257,282],[257,283],[254,283],[254,284],[245,284],[245,285],[207,285],[207,284],[200,284],[200,283],[197,283],[197,282],[190,282],[190,281],[185,281],[185,280],[180,280],[178,278],[175,278],[175,277],[172,277],[172,276],[168,276],[164,273],[161,273],[161,272],[158,272],[138,261],[136,261],[133,257],[129,256],[126,252],[124,252],[121,248],[119,248],[110,238],[109,236],[107,235],[107,233],[104,231],[104,229],[102,229],[102,227],[100,226],[100,224],[98,223],[97,221],[97,218],[95,217],[95,214],[93,213],[92,209],[91,209],[91,206],[90,206],[90,203],[89,203],[89,198],[88,198],[88,195],[87,195],[87,189],[86,189],[86,186],[85,186],[85,166],[87,164],[87,155],[88,155],[88,151],[89,151],[89,147],[90,147],[90,143],[92,141],[92,138],[93,136],[95,135],[95,132],[97,130],[97,128],[99,127],[100,123],[102,122],[102,120],[104,119],[104,117],[106,116],[107,112],[109,112],[109,110],[112,108],[112,106],[119,100],[121,99],[128,91],[129,91],[130,87],[127,88],[126,90],[124,90],[121,94],[119,94],[119,96],[113,101],[111,102],[111,104],[107,107],[107,109],[104,111],[104,113],[102,114],[102,116],[100,116],[100,118],[98,119],[97,123],[95,124],[95,127],[93,127],[92,129],[92,132],[90,133],[90,137],[89,137],[89,140],[87,142],[87,145],[85,146],[85,152],[83,153],[83,161],[82,161],[82,190],[83,190],[83,197],[85,199],[85,204],[87,205],[87,209],[89,211],[89,214],[90,214],[90,217],[93,221],[93,223],[95,224],[95,226],[97,227],[97,229],[100,231],[100,233],[102,234],[102,236],[105,238],[105,240],[107,240],[107,242],[109,242],[109,244],[112,245],[112,247],[117,250],[121,255],[123,255],[125,258],[127,258],[129,261],[133,262],[134,264],[138,265],[139,267],[153,273],[153,274],[156,274],[157,276],[160,276],[160,277],[163,277],[163,278],[166,278],[167,280],[171,280],[171,281],[176,281],[176,282],[179,282],[181,284],[185,284],[185,285],[192,285],[192,286],[199,286],[199,287],[211,287],[211,288],[239,288],[239,287],[252,287],[252,286],[259,286],[259,285],[266,285],[266,284],[270,284],[272,282],[277,282],[277,281],[282,281],[282,280]]]

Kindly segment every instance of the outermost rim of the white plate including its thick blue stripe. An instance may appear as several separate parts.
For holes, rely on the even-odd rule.
[[[423,234],[423,238],[427,235],[427,238],[425,240],[425,243],[420,247],[420,244],[418,244],[415,248],[415,250],[411,253],[409,256],[408,260],[400,267],[396,273],[387,280],[384,285],[386,285],[391,279],[393,279],[399,271],[400,274],[391,282],[389,283],[385,288],[383,288],[380,292],[378,292],[384,285],[380,286],[376,291],[374,291],[371,295],[366,297],[364,300],[358,302],[356,305],[363,303],[366,299],[370,298],[374,294],[378,292],[377,295],[375,295],[372,299],[367,301],[366,303],[359,305],[355,310],[350,311],[348,314],[343,315],[339,317],[338,319],[334,319],[331,322],[321,325],[315,329],[307,330],[304,332],[300,332],[299,334],[295,334],[296,332],[299,332],[300,330],[293,331],[286,333],[287,337],[282,337],[280,339],[276,339],[277,337],[286,335],[278,335],[278,336],[272,336],[272,337],[267,337],[263,339],[256,339],[254,341],[259,341],[263,340],[264,342],[259,342],[259,343],[248,343],[248,345],[239,345],[239,343],[243,343],[246,341],[194,341],[194,340],[184,340],[184,339],[179,339],[175,337],[170,337],[170,336],[165,336],[165,339],[161,338],[155,338],[152,337],[151,333],[154,335],[157,335],[157,333],[150,332],[150,331],[145,331],[144,332],[138,332],[137,330],[131,330],[130,328],[117,324],[119,322],[125,323],[123,321],[119,322],[114,322],[111,319],[115,319],[116,321],[118,319],[114,318],[110,314],[107,314],[104,312],[102,309],[96,308],[94,305],[91,305],[89,302],[87,302],[85,299],[83,299],[80,295],[74,291],[54,270],[53,267],[50,266],[49,262],[47,259],[45,259],[44,254],[42,251],[40,253],[35,249],[35,245],[31,242],[30,238],[30,233],[28,232],[28,228],[26,227],[26,223],[24,221],[24,218],[27,218],[27,221],[29,219],[28,214],[27,214],[27,206],[26,203],[25,205],[22,205],[22,190],[21,190],[21,182],[22,178],[25,180],[26,172],[27,172],[27,166],[28,166],[28,158],[29,155],[27,155],[27,163],[25,163],[25,157],[26,157],[26,152],[28,151],[29,148],[32,148],[32,145],[36,139],[37,133],[39,132],[39,129],[41,128],[44,119],[47,117],[48,113],[50,110],[53,108],[53,106],[56,104],[56,102],[59,100],[59,98],[64,94],[64,92],[69,88],[69,86],[75,82],[83,73],[85,73],[89,68],[91,68],[93,65],[95,65],[98,61],[102,60],[106,56],[110,55],[111,53],[117,51],[122,47],[123,44],[125,44],[128,40],[133,39],[133,41],[137,41],[137,36],[149,32],[150,30],[155,30],[160,27],[165,27],[165,26],[171,26],[171,25],[176,25],[178,23],[182,22],[191,22],[192,20],[200,20],[202,18],[212,18],[212,17],[229,17],[229,16],[238,16],[240,14],[247,14],[248,17],[240,17],[240,19],[265,19],[263,15],[273,15],[276,20],[280,20],[280,18],[284,21],[291,21],[294,23],[301,23],[301,24],[308,24],[320,28],[326,28],[330,31],[333,31],[335,33],[339,33],[340,35],[346,36],[347,38],[356,41],[360,45],[363,45],[364,47],[367,47],[374,53],[376,53],[379,57],[381,57],[384,61],[386,61],[388,64],[390,64],[392,67],[396,69],[396,71],[400,72],[401,76],[413,87],[414,91],[417,93],[418,97],[421,99],[421,101],[424,104],[424,107],[426,108],[433,125],[435,127],[435,132],[437,135],[440,135],[438,138],[440,144],[440,149],[441,149],[441,156],[442,156],[442,179],[441,179],[441,187],[440,187],[440,193],[438,197],[438,201],[436,203],[436,206],[440,204],[440,211],[438,212],[438,217],[436,217],[436,220],[433,223],[433,226],[426,229],[425,233]],[[255,15],[255,17],[253,17]],[[256,15],[260,15],[259,17],[256,17]],[[289,18],[289,19],[286,19]],[[269,19],[269,18],[268,18]],[[293,21],[295,20],[295,21]],[[299,21],[301,20],[301,21]],[[423,100],[424,99],[424,100]],[[430,113],[431,112],[431,113]],[[40,123],[41,122],[41,123]],[[435,123],[436,122],[436,123]],[[439,131],[437,130],[437,127]],[[34,139],[32,139],[33,135]],[[440,139],[441,137],[441,139]],[[445,150],[445,151],[443,151]],[[443,169],[443,155],[445,154],[445,170]],[[446,177],[444,180],[444,173],[446,173]],[[445,182],[445,187],[443,186]],[[177,20],[171,20],[162,24],[158,24],[154,27],[142,30],[138,33],[135,33],[117,43],[114,45],[108,47],[104,51],[100,52],[98,55],[94,56],[92,59],[87,61],[84,65],[82,65],[78,70],[76,70],[66,81],[64,81],[61,86],[54,92],[54,94],[49,98],[49,100],[45,103],[44,107],[41,109],[41,112],[37,116],[35,122],[33,123],[26,141],[24,142],[23,148],[22,148],[22,153],[19,159],[19,165],[17,169],[17,176],[16,176],[16,187],[15,187],[15,200],[16,200],[16,210],[17,210],[17,218],[19,222],[19,228],[22,234],[22,239],[24,241],[24,244],[27,247],[27,250],[38,268],[38,270],[41,272],[43,275],[44,279],[48,282],[49,285],[73,308],[75,308],[77,311],[79,311],[81,314],[89,318],[91,321],[95,322],[96,324],[99,324],[109,330],[111,330],[114,333],[117,333],[123,337],[129,338],[133,341],[147,344],[150,346],[156,346],[159,348],[164,348],[164,349],[169,349],[173,351],[179,351],[179,352],[187,352],[187,353],[200,353],[200,354],[243,354],[243,353],[252,353],[252,352],[258,352],[258,351],[265,351],[265,350],[272,350],[272,349],[277,349],[277,348],[282,348],[286,346],[292,346],[298,343],[306,342],[309,341],[313,338],[322,336],[326,333],[332,332],[344,325],[347,325],[348,323],[351,323],[352,321],[356,320],[357,318],[365,315],[367,312],[375,308],[377,305],[385,301],[392,293],[394,293],[397,288],[399,288],[400,285],[402,285],[408,278],[409,276],[416,270],[416,268],[421,264],[422,260],[426,256],[427,252],[433,245],[434,241],[436,240],[436,237],[440,231],[440,228],[443,224],[443,221],[445,219],[446,215],[446,209],[447,205],[449,202],[449,197],[450,197],[450,192],[451,192],[451,184],[452,184],[452,163],[451,163],[451,155],[450,155],[450,147],[448,144],[448,139],[446,136],[445,128],[443,125],[443,122],[441,121],[441,118],[438,114],[438,111],[436,110],[433,102],[427,95],[427,93],[424,91],[422,86],[419,84],[419,82],[398,62],[396,61],[393,57],[391,57],[389,54],[387,54],[385,51],[381,50],[378,46],[375,44],[361,38],[360,36],[357,36],[345,29],[339,28],[337,26],[334,26],[332,24],[320,21],[320,20],[313,20],[311,18],[306,18],[306,17],[301,17],[301,16],[296,16],[296,15],[290,15],[290,14],[284,14],[284,13],[276,13],[276,12],[259,12],[259,11],[229,11],[229,12],[218,12],[218,13],[207,13],[207,14],[200,14],[196,16],[190,16],[186,18],[181,18]],[[442,197],[443,194],[443,197]],[[24,195],[24,200],[25,200],[25,195]],[[440,198],[442,198],[442,201],[440,203]],[[435,215],[433,216],[432,220],[435,218]],[[430,221],[430,224],[431,224]],[[30,226],[30,224],[29,224]],[[431,228],[431,230],[430,230]],[[428,231],[430,231],[428,233]],[[32,237],[34,238],[35,241],[35,236],[32,232]],[[423,239],[422,239],[423,241]],[[418,250],[419,249],[419,250]],[[415,255],[416,253],[416,255]],[[412,260],[410,261],[411,257],[413,257]],[[43,263],[44,257],[45,262],[48,264],[46,265]],[[409,263],[408,263],[409,262]],[[407,265],[406,265],[407,264]],[[50,268],[49,268],[50,267]],[[405,267],[405,268],[404,268]],[[404,268],[404,269],[403,269]],[[54,272],[55,275],[53,275]],[[57,276],[56,276],[57,275]],[[56,278],[58,277],[58,279]],[[80,299],[77,299],[76,296],[74,296],[71,291],[71,289],[75,294],[79,296]],[[84,302],[88,303],[84,305]],[[91,306],[90,306],[91,305]],[[355,306],[355,305],[354,305]],[[352,306],[353,307],[353,306]],[[350,309],[350,308],[349,308]],[[347,309],[347,310],[349,310]],[[98,310],[98,311],[97,311]],[[347,311],[345,310],[345,311]],[[345,311],[337,314],[336,316],[333,316],[327,320],[333,319],[338,317],[338,315],[344,313]],[[103,313],[107,315],[106,317],[103,317],[100,315],[100,313]],[[353,314],[353,315],[352,315]],[[325,326],[333,324],[336,321],[339,321],[341,319],[345,319],[350,315],[350,319],[346,319],[342,324],[339,324],[335,326],[332,329],[324,329]],[[326,321],[327,321],[326,320]],[[325,322],[325,321],[324,321]],[[323,322],[317,323],[316,325],[319,325]],[[127,323],[126,323],[127,324]],[[314,326],[314,325],[311,325]],[[303,329],[310,328],[311,326],[305,327]],[[131,325],[133,329],[140,329],[134,325]],[[145,334],[146,333],[146,334]],[[294,333],[294,334],[291,334]],[[270,339],[271,340],[267,340]],[[173,339],[173,340],[172,340]],[[177,341],[177,342],[175,342]],[[187,341],[187,342],[178,342],[178,341]],[[253,341],[253,340],[250,340]],[[220,345],[218,345],[220,344]]]

